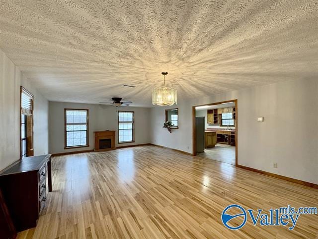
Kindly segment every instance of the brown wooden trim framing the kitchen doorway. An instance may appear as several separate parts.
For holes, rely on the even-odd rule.
[[[220,105],[223,103],[230,103],[230,102],[234,102],[235,103],[235,120],[236,120],[236,124],[235,124],[235,166],[238,167],[238,100],[230,100],[230,101],[221,101],[221,102],[216,102],[216,103],[211,103],[211,104],[203,104],[203,105],[197,105],[197,106],[192,106],[192,155],[196,156],[196,127],[195,127],[195,108],[198,106],[215,106],[215,105]]]

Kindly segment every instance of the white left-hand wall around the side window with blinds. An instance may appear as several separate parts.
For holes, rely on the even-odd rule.
[[[20,85],[34,95],[34,155],[48,153],[48,101],[0,50],[0,170],[20,158]]]

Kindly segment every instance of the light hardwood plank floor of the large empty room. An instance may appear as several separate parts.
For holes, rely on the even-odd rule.
[[[317,207],[318,190],[156,146],[52,158],[53,192],[19,239],[318,238],[318,215],[295,229],[221,222],[225,207]]]

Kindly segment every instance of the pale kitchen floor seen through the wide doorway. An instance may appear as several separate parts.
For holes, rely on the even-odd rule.
[[[213,148],[206,148],[204,152],[197,154],[200,157],[221,161],[235,165],[235,146],[217,143]]]

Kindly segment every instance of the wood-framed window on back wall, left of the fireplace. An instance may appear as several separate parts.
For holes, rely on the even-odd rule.
[[[88,110],[65,109],[65,148],[88,146]]]

